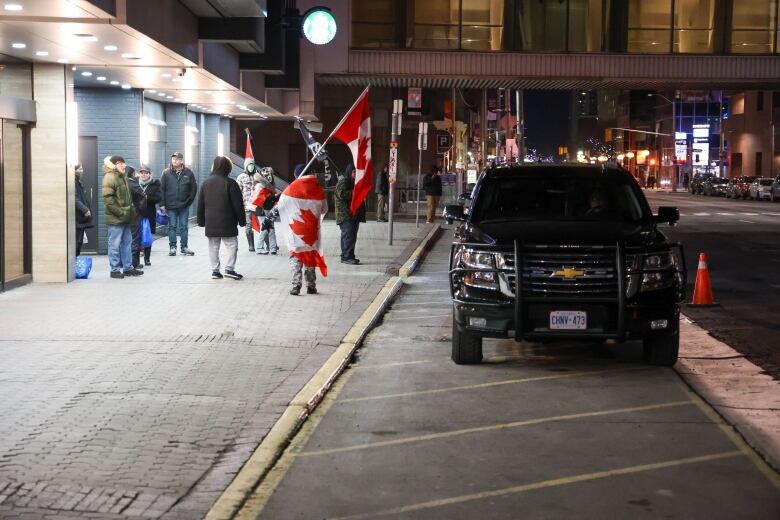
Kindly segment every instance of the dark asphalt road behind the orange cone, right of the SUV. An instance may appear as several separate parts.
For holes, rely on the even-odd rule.
[[[775,379],[780,379],[780,203],[646,191],[653,209],[676,206],[680,222],[662,226],[685,246],[689,298],[700,252],[707,254],[712,308],[683,312]],[[690,299],[689,299],[690,301]]]

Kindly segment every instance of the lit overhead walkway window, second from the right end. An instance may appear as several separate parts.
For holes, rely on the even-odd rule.
[[[714,0],[675,0],[674,52],[713,51]]]

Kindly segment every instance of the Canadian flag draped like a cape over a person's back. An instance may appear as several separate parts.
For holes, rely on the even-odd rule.
[[[322,275],[328,276],[320,240],[320,221],[328,212],[328,201],[317,177],[303,175],[295,179],[282,192],[276,208],[290,254],[306,267],[319,267]]]

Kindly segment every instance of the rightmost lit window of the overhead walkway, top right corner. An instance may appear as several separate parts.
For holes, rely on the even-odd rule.
[[[770,54],[777,27],[777,0],[739,0],[731,18],[731,52]]]

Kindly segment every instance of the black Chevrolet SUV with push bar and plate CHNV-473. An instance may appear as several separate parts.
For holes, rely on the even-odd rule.
[[[657,229],[626,171],[597,166],[492,168],[474,188],[450,254],[452,359],[482,360],[483,337],[643,340],[645,361],[671,366],[685,296],[682,246]]]

